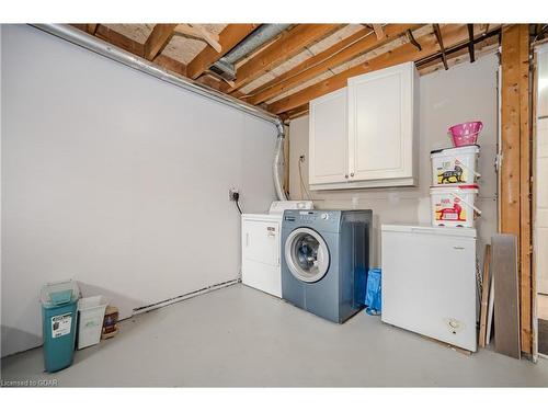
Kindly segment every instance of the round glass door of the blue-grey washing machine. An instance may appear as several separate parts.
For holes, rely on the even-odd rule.
[[[323,278],[329,270],[329,249],[321,236],[300,227],[285,240],[285,261],[290,273],[306,283]]]

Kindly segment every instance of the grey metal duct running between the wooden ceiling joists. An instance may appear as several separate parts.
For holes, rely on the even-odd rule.
[[[210,69],[222,76],[227,80],[236,79],[235,64],[243,57],[249,56],[262,45],[266,44],[282,32],[287,30],[290,24],[262,24],[259,28],[248,35],[235,48],[217,60]]]

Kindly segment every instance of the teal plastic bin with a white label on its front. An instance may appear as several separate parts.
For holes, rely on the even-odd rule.
[[[46,284],[41,292],[44,365],[54,373],[72,364],[80,297],[73,281]]]

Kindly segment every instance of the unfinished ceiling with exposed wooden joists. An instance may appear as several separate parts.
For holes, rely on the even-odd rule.
[[[75,26],[284,118],[306,114],[310,100],[353,76],[406,61],[415,61],[421,73],[473,61],[496,49],[501,30],[501,24],[366,23],[277,25],[278,31],[265,24]],[[242,56],[231,61],[235,50]]]

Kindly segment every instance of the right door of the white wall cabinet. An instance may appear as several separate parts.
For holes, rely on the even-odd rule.
[[[412,62],[349,79],[352,180],[413,176]]]

